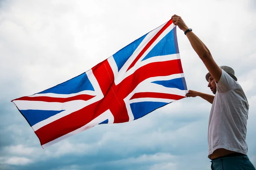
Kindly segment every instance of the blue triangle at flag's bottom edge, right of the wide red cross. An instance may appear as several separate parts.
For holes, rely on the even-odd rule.
[[[136,102],[131,103],[131,111],[134,115],[134,120],[139,119],[146,114],[150,113],[151,111],[156,110],[157,108],[160,108],[168,103],[165,102]]]

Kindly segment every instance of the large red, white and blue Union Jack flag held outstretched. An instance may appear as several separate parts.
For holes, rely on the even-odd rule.
[[[44,148],[95,125],[139,119],[186,93],[169,20],[83,74],[12,102]]]

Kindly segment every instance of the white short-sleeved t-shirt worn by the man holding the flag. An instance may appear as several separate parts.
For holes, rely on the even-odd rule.
[[[249,104],[244,91],[224,70],[216,86],[217,92],[209,117],[208,155],[219,148],[246,155]]]

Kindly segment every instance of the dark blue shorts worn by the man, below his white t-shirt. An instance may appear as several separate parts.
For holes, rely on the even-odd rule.
[[[213,159],[212,170],[255,170],[248,156],[224,156]]]

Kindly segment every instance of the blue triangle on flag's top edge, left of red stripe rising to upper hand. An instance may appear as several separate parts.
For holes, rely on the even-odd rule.
[[[135,40],[134,42],[131,42],[131,44],[125,46],[113,55],[118,71],[122,68],[122,66],[125,64],[128,58],[131,57],[131,55],[134,53],[134,51],[137,49],[137,47],[140,45],[140,43],[144,40],[146,36],[147,34],[143,35],[142,37]]]

